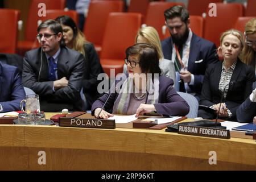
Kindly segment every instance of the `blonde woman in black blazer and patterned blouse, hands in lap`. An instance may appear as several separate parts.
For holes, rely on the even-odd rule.
[[[255,80],[254,70],[238,58],[243,44],[240,31],[228,30],[221,35],[219,51],[224,61],[207,68],[200,100],[201,105],[212,107],[215,111],[199,109],[199,117],[214,119],[218,114],[218,118],[237,121],[237,107],[250,95]]]

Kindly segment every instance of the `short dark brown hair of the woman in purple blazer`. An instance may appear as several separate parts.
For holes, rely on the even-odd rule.
[[[158,51],[156,51],[155,47],[150,46],[150,44],[134,44],[128,47],[125,53],[126,59],[129,56],[139,56],[139,67],[141,67],[142,73],[161,73]]]

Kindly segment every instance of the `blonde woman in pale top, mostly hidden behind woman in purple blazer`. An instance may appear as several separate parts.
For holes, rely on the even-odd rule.
[[[164,59],[160,38],[158,32],[154,27],[143,27],[136,35],[135,43],[146,43],[156,48],[159,55],[159,67],[161,69],[161,75],[167,76],[175,82],[175,67],[174,61]],[[123,65],[123,72],[127,73],[127,65]]]

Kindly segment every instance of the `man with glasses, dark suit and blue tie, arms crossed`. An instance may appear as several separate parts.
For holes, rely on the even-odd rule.
[[[41,110],[85,110],[80,95],[84,56],[65,47],[62,32],[55,20],[40,24],[41,47],[28,51],[24,57],[23,85],[39,94]]]

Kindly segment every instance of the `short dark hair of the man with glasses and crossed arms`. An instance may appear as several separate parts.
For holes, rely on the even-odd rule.
[[[53,34],[59,34],[59,32],[61,34],[63,34],[63,30],[62,30],[60,23],[53,19],[48,19],[48,20],[44,21],[43,23],[41,23],[38,27],[38,32],[42,28],[50,28],[50,30],[53,32]],[[63,36],[60,40],[60,46],[65,47],[65,40],[63,39]]]

